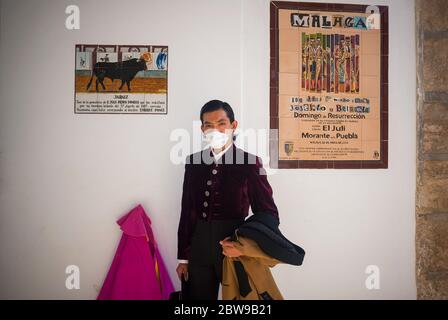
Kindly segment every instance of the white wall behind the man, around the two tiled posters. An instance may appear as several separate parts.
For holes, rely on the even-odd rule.
[[[269,176],[282,231],[307,250],[302,267],[273,270],[287,299],[416,297],[413,3],[376,3],[391,17],[389,169]],[[80,30],[65,29],[69,4]],[[137,203],[175,279],[183,166],[170,162],[170,133],[191,132],[211,98],[244,129],[268,128],[269,1],[2,0],[0,10],[0,298],[95,298],[115,220]],[[75,43],[168,45],[168,115],[75,115]],[[65,289],[70,264],[80,290]],[[377,291],[364,285],[370,264]]]

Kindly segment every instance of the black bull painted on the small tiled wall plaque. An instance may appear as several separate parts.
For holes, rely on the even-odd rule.
[[[103,90],[106,90],[104,86],[104,78],[109,78],[112,81],[115,79],[121,80],[119,90],[121,90],[126,83],[128,91],[131,91],[131,81],[134,79],[137,72],[147,70],[146,61],[143,59],[130,59],[120,62],[97,62],[93,67],[92,76],[89,84],[87,85],[87,91],[92,84],[93,76],[96,76],[96,91],[98,92],[98,83],[103,86]]]

